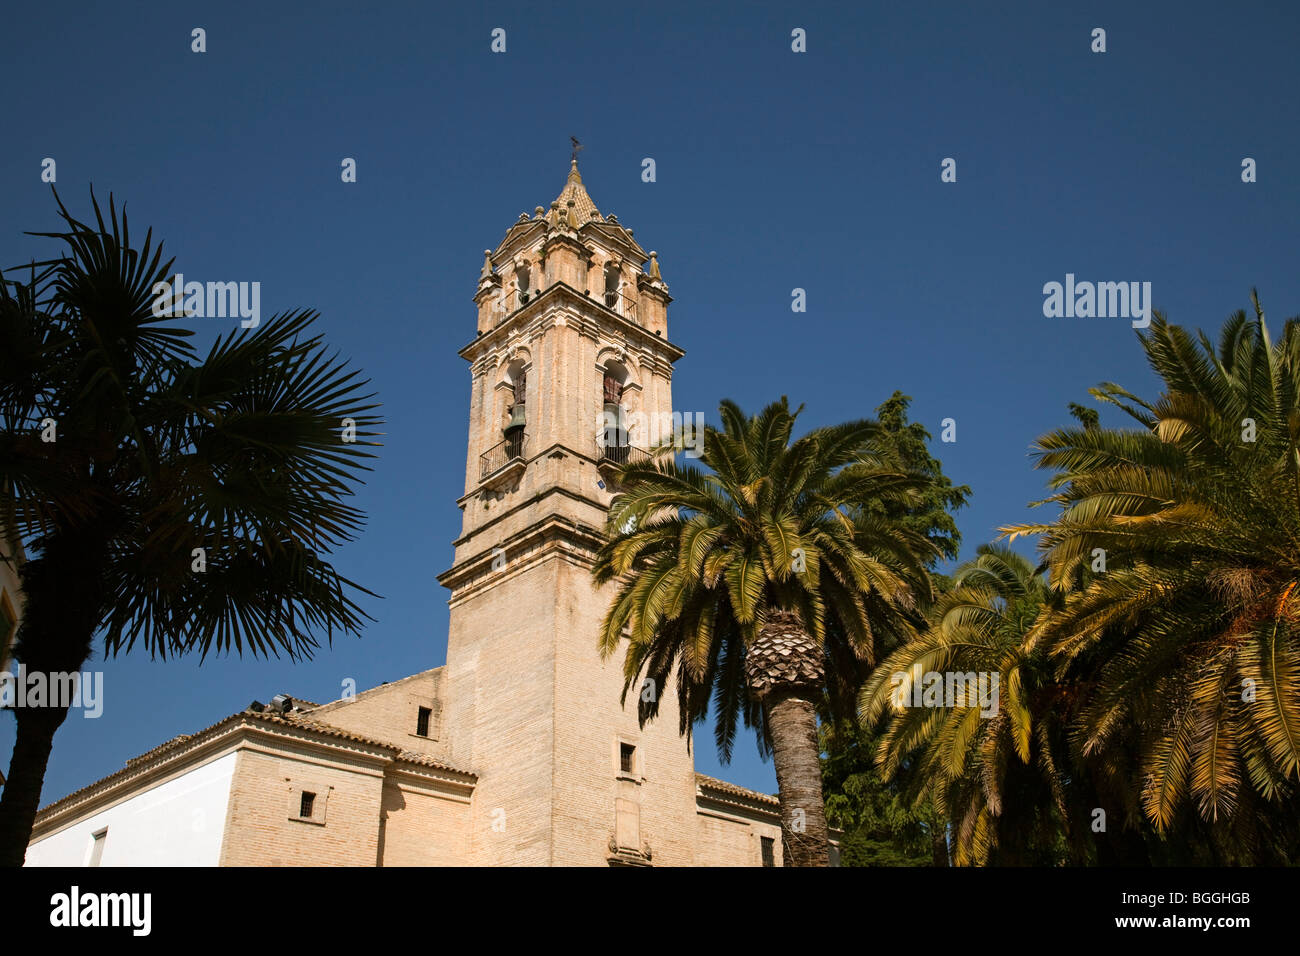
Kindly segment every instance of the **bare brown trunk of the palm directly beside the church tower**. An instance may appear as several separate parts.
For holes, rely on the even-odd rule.
[[[829,866],[816,710],[797,693],[770,695],[763,706],[780,790],[784,865]]]

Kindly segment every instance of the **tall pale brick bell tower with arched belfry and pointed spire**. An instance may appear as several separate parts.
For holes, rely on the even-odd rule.
[[[621,653],[597,649],[608,592],[592,564],[612,466],[671,431],[668,286],[575,157],[478,276],[469,445],[443,674],[451,758],[480,774],[477,865],[690,865],[696,775],[675,688],[659,717],[620,706]]]

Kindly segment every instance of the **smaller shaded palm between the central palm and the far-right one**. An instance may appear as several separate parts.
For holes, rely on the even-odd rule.
[[[906,769],[913,799],[952,821],[958,865],[1050,862],[1069,832],[1065,763],[1053,718],[1061,688],[1045,654],[1023,644],[1052,596],[1046,580],[1004,545],[980,545],[930,610],[926,631],[887,657],[863,684],[862,721],[888,718],[878,762],[887,779]],[[935,678],[927,675],[937,674]],[[985,698],[946,693],[948,675],[988,675]],[[992,679],[996,675],[996,698]],[[976,678],[978,679],[978,678]],[[958,688],[956,682],[953,691]]]

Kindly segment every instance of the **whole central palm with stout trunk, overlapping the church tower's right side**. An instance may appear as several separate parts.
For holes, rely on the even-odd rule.
[[[624,698],[642,675],[676,674],[680,731],[715,711],[729,760],[737,717],[771,753],[786,865],[828,862],[818,760],[816,704],[852,713],[878,641],[914,632],[928,597],[923,535],[875,514],[914,501],[924,476],[896,466],[874,421],[818,428],[790,441],[785,398],[746,418],[723,402],[701,462],[660,457],[625,466],[594,576],[615,583],[601,636],[614,654],[627,637]],[[655,700],[640,704],[645,722]]]

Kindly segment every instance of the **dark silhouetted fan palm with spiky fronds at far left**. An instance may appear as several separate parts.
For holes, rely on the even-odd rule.
[[[125,212],[110,199],[105,222],[91,199],[94,226],[58,203],[68,229],[43,235],[60,259],[0,282],[3,523],[29,553],[14,656],[72,674],[98,633],[114,654],[291,658],[356,633],[364,588],[325,557],[364,520],[346,503],[377,434],[364,380],[307,311],[200,360],[192,332],[152,313],[161,246],[151,258],[150,233],[133,248]],[[66,701],[14,709],[3,865],[22,864],[66,715]]]

